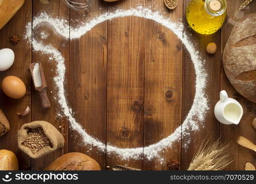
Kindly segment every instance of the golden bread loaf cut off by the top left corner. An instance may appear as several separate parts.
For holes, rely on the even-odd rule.
[[[25,0],[0,0],[0,29],[17,13]]]

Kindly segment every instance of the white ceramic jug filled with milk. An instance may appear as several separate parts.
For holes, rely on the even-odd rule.
[[[220,123],[238,125],[242,118],[242,105],[233,98],[228,98],[226,91],[220,91],[220,101],[214,107],[214,115]]]

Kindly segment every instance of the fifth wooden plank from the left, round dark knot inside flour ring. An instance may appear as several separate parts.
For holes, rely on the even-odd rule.
[[[183,17],[183,3],[167,11],[164,4],[147,2],[163,15],[177,21]],[[168,137],[182,123],[182,43],[167,28],[146,20],[145,33],[145,146]],[[167,170],[167,161],[180,161],[180,142],[161,153],[162,161],[144,158],[145,170]]]

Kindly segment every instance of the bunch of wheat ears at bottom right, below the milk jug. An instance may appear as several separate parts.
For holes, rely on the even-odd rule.
[[[220,171],[233,159],[230,157],[230,144],[220,144],[219,140],[209,145],[204,141],[188,167],[188,171]]]

